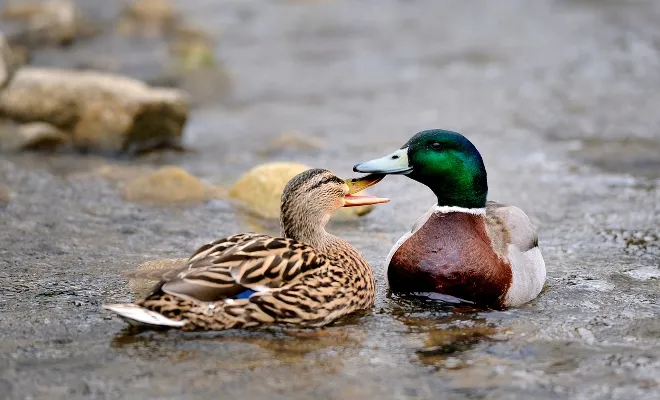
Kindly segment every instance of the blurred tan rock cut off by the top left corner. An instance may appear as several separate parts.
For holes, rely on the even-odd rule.
[[[79,16],[71,0],[10,1],[0,16],[22,24],[11,41],[29,47],[71,43],[78,30]]]

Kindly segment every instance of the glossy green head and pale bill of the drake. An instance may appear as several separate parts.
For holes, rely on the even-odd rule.
[[[353,170],[406,175],[433,190],[439,206],[486,206],[486,168],[477,148],[460,133],[442,129],[419,132],[401,149],[357,164]]]

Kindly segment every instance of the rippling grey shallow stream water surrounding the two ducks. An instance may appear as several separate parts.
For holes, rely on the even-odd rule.
[[[0,392],[660,399],[660,171],[648,150],[660,147],[660,6],[179,3],[221,35],[217,55],[233,77],[221,104],[192,114],[186,144],[195,152],[0,159],[0,182],[14,192],[0,205]],[[85,174],[94,167],[177,164],[223,185],[257,163],[294,160],[349,176],[354,163],[429,127],[473,140],[489,197],[537,225],[548,267],[537,300],[490,312],[388,296],[385,256],[433,202],[425,188],[388,177],[371,191],[391,203],[332,226],[376,271],[372,312],[321,331],[140,335],[100,312],[131,300],[120,271],[261,225],[222,200],[127,203],[115,183]],[[263,155],[268,139],[292,130],[322,148]]]

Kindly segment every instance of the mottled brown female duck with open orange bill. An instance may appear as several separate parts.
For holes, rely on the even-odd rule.
[[[344,181],[327,170],[305,171],[284,188],[283,237],[243,233],[216,240],[182,268],[160,272],[160,283],[145,299],[104,308],[133,324],[184,330],[322,326],[369,308],[375,294],[369,264],[325,225],[340,207],[388,202],[354,195],[380,179]],[[153,272],[130,275],[154,279]]]

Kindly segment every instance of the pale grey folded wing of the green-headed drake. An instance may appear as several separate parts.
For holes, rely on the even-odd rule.
[[[532,222],[524,211],[494,201],[486,203],[486,231],[493,249],[507,254],[509,244],[525,252],[538,246],[538,236]]]

